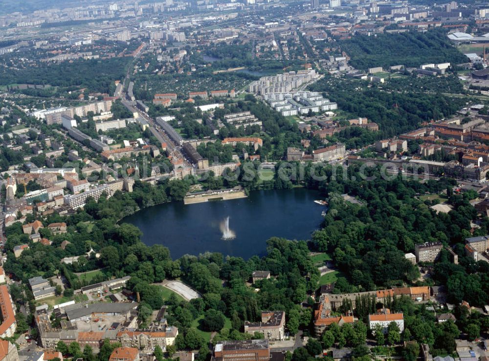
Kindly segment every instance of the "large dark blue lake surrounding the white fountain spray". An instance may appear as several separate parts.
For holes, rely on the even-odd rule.
[[[326,207],[313,201],[317,191],[252,191],[249,197],[184,205],[170,202],[143,209],[124,219],[142,232],[142,240],[152,246],[162,244],[173,259],[206,251],[241,256],[266,254],[270,237],[310,239],[323,221]],[[222,223],[229,217],[229,229],[236,235],[222,240]]]

